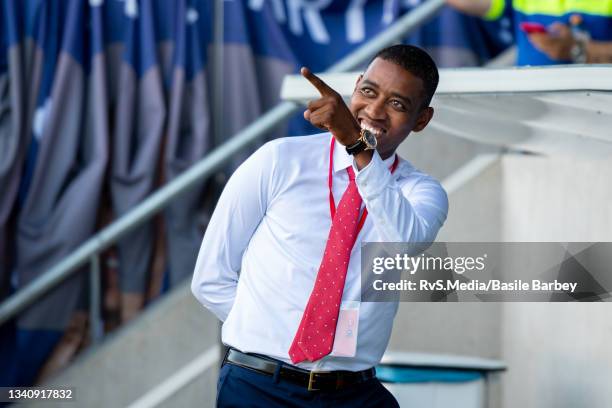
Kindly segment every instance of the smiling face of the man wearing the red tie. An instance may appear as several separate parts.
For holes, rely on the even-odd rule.
[[[376,58],[359,77],[350,110],[362,128],[376,134],[378,153],[391,157],[411,131],[425,128],[433,115],[424,102],[423,81],[399,65]]]

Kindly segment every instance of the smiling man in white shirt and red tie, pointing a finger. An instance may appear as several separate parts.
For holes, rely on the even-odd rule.
[[[321,94],[304,117],[329,132],[274,140],[247,159],[198,255],[193,294],[224,322],[230,347],[217,403],[397,406],[373,370],[397,302],[360,303],[360,247],[432,242],[446,219],[440,184],[395,154],[431,120],[438,71],[419,48],[386,48],[350,108],[302,75]]]

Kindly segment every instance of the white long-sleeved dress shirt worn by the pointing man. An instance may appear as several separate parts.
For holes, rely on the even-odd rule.
[[[291,364],[288,350],[314,287],[331,226],[331,135],[266,143],[234,172],[204,235],[191,290],[223,323],[222,341]],[[333,195],[348,185],[352,156],[335,142]],[[342,302],[361,300],[361,242],[433,242],[448,200],[438,181],[400,159],[374,153],[356,173],[368,216],[351,253]],[[354,357],[326,356],[298,367],[363,370],[379,363],[397,302],[360,303]]]

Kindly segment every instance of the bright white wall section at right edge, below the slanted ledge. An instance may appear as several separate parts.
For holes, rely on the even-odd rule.
[[[507,156],[506,241],[612,241],[612,161]],[[506,303],[503,406],[612,406],[608,303]]]

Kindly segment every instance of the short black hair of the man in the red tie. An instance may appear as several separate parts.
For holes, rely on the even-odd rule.
[[[436,63],[427,52],[414,45],[397,44],[378,51],[374,58],[372,58],[372,61],[376,58],[393,62],[417,78],[420,78],[423,81],[425,91],[421,108],[429,106],[431,98],[433,98],[438,87],[440,76]]]

